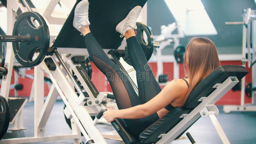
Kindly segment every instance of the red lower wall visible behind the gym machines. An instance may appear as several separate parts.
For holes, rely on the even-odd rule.
[[[152,68],[153,73],[157,72],[157,64],[156,63],[149,63],[149,65]],[[164,73],[173,73],[173,63],[164,63]],[[221,65],[241,65],[241,61],[221,61]],[[247,66],[247,65],[246,65]],[[95,84],[96,88],[98,89],[99,92],[111,92],[111,87],[106,81],[105,76],[100,72],[98,68],[92,63],[92,69],[93,69],[93,74],[92,74],[92,82]],[[252,72],[251,68],[247,68],[249,71],[249,74],[246,75],[245,78],[245,83],[249,83],[252,80]],[[34,69],[31,68],[30,70],[27,70],[26,73],[33,75]],[[13,79],[13,73],[12,73],[12,81],[11,84],[14,83]],[[183,64],[180,64],[180,78],[183,78],[184,75],[184,69],[183,69]],[[100,79],[100,80],[99,80]],[[169,80],[173,79],[173,75],[169,77]],[[18,95],[20,97],[29,97],[30,95],[30,90],[32,86],[33,80],[28,79],[28,78],[19,78],[19,83],[23,84],[23,90],[18,92]],[[161,86],[162,88],[164,86]],[[44,95],[47,96],[49,92],[47,84],[44,84]],[[14,90],[10,90],[10,96],[14,96]],[[218,102],[218,105],[224,105],[224,104],[232,104],[232,105],[239,105],[240,104],[240,95],[241,91],[236,91],[233,92],[230,90],[225,96],[223,96]],[[245,103],[251,103],[251,98],[248,98],[245,96]]]

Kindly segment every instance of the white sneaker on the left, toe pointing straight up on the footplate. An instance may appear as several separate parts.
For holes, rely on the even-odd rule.
[[[73,27],[80,31],[81,27],[89,26],[89,2],[88,0],[82,0],[76,5],[74,20],[73,20]],[[81,31],[80,31],[81,32]]]

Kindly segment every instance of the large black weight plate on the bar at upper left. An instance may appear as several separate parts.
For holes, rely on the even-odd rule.
[[[37,22],[38,27],[33,24]],[[27,43],[13,42],[12,48],[16,60],[24,67],[34,67],[40,64],[47,53],[50,43],[49,28],[44,18],[37,12],[24,12],[14,23],[12,35],[30,36]],[[32,59],[39,52],[36,59]]]

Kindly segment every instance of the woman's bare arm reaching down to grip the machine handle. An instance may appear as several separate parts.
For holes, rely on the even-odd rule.
[[[104,112],[103,116],[108,122],[112,122],[116,118],[138,119],[147,117],[164,108],[180,96],[184,96],[187,89],[187,85],[182,79],[175,79],[167,84],[158,95],[147,103],[127,109],[108,110]]]

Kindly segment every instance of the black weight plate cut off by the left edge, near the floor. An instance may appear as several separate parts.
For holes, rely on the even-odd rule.
[[[7,101],[4,97],[0,96],[0,140],[7,132],[10,122],[10,111]]]

